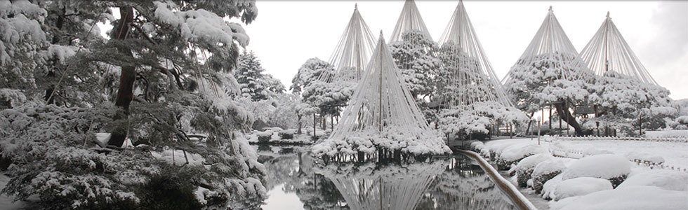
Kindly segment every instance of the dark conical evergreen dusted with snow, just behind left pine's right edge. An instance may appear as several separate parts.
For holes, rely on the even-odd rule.
[[[239,88],[244,97],[250,97],[254,102],[267,99],[266,83],[263,82],[263,66],[253,52],[244,52],[239,56],[237,70],[234,78],[237,78]]]

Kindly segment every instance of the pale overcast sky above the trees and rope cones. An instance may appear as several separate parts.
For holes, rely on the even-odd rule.
[[[247,47],[267,73],[289,87],[306,59],[329,60],[354,4],[373,34],[385,39],[404,1],[257,1],[258,18],[247,25]],[[458,1],[416,1],[437,41]],[[521,56],[549,6],[580,51],[607,11],[640,61],[673,99],[688,98],[688,1],[464,1],[479,41],[499,78]]]

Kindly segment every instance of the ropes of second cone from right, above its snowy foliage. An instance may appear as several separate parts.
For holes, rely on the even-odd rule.
[[[557,75],[558,78],[564,80],[590,78],[587,75],[583,75],[588,73],[590,69],[587,68],[583,59],[578,57],[578,51],[576,51],[569,37],[564,33],[564,29],[562,29],[562,25],[559,24],[557,17],[555,17],[551,6],[535,37],[516,64],[512,66],[509,73],[502,80],[502,83],[509,83],[515,69],[523,65],[529,65],[534,59],[551,62],[551,64],[548,64],[550,65],[548,68],[576,69],[576,71],[556,71],[560,73],[560,75]]]

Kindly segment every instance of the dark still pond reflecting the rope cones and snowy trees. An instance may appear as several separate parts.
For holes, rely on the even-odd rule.
[[[261,146],[262,209],[517,209],[463,155],[426,162],[324,165],[308,147]]]

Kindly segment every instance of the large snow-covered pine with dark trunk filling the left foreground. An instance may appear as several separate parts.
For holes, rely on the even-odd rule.
[[[240,133],[253,116],[226,94],[238,92],[228,73],[248,36],[223,17],[251,22],[254,1],[0,5],[8,8],[0,30],[16,35],[0,38],[1,79],[11,81],[0,89],[11,104],[0,111],[0,148],[14,164],[4,193],[37,195],[55,209],[194,209],[222,200],[242,209],[264,195],[263,165]],[[104,20],[114,27],[109,40],[91,31]],[[45,104],[51,86],[55,104],[66,106]],[[96,141],[105,132],[109,141]],[[119,148],[125,139],[139,146]]]

